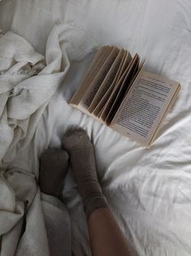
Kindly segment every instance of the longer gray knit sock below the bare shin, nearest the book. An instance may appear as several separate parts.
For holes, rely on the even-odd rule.
[[[63,148],[70,155],[72,171],[82,196],[87,218],[98,208],[108,208],[98,175],[93,152],[93,144],[85,130],[70,131],[63,136]]]

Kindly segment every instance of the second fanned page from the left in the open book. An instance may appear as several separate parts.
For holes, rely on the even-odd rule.
[[[93,81],[89,84],[89,89],[85,92],[84,97],[80,100],[79,106],[88,109],[92,103],[99,87],[102,85],[106,74],[109,72],[111,65],[114,63],[117,55],[119,54],[119,49],[114,47],[110,55],[103,60],[102,68],[99,69],[97,75],[94,77]]]

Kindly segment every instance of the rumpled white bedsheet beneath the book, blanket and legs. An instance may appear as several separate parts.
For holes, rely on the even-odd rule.
[[[100,45],[139,52],[148,71],[181,83],[179,99],[148,150],[68,106],[89,58],[73,63],[33,141],[18,151],[11,165],[37,175],[41,152],[59,147],[68,127],[84,127],[95,146],[98,174],[111,209],[138,255],[191,254],[190,13],[189,0],[0,3],[0,28],[18,33],[41,54],[54,24],[70,21]],[[89,255],[85,214],[70,174],[63,197],[72,216],[73,249],[77,255]]]

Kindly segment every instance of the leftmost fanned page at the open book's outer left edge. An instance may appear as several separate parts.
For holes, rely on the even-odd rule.
[[[73,95],[70,104],[79,104],[80,99],[85,95],[85,91],[88,89],[90,82],[93,80],[93,77],[96,76],[98,70],[102,67],[104,60],[111,53],[113,46],[102,46],[95,56],[93,57],[93,61],[89,65],[88,70],[86,71],[78,90]]]

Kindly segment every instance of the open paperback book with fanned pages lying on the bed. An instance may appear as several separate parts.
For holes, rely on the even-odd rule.
[[[180,83],[145,72],[139,55],[102,46],[70,104],[150,147],[174,103]]]

